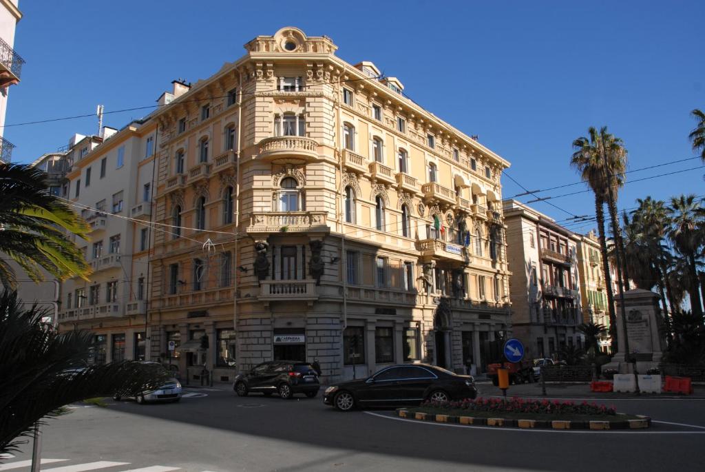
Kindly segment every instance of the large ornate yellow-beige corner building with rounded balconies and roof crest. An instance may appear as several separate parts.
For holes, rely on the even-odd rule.
[[[508,162],[329,37],[245,49],[153,116],[154,223],[173,234],[155,234],[152,357],[190,380],[285,358],[327,379],[482,370],[509,329]]]

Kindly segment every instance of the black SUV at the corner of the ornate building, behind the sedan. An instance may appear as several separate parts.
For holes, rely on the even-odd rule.
[[[297,393],[313,398],[320,387],[313,365],[298,361],[265,362],[238,374],[233,382],[233,390],[239,397],[252,392],[262,392],[265,396],[277,392],[283,399],[290,399]]]

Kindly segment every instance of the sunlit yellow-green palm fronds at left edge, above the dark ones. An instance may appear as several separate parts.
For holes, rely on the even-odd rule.
[[[42,270],[57,279],[87,279],[90,267],[64,231],[88,239],[89,227],[71,207],[49,193],[46,174],[23,164],[0,162],[0,253],[17,262],[30,279]],[[17,281],[8,260],[0,259],[0,283]]]

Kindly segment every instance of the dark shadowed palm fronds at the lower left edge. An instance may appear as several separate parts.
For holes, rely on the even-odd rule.
[[[16,292],[0,294],[0,454],[16,450],[20,437],[64,405],[153,390],[168,378],[156,363],[88,365],[92,332],[58,334],[42,323],[45,315],[23,308]]]

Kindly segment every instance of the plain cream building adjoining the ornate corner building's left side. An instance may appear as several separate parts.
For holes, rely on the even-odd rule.
[[[64,164],[53,164],[63,170],[62,198],[71,200],[91,227],[90,241],[73,238],[93,270],[89,281],[73,278],[61,284],[59,329],[92,330],[95,363],[149,359],[146,303],[156,128],[147,119],[120,131],[106,127],[102,137],[75,135]]]

